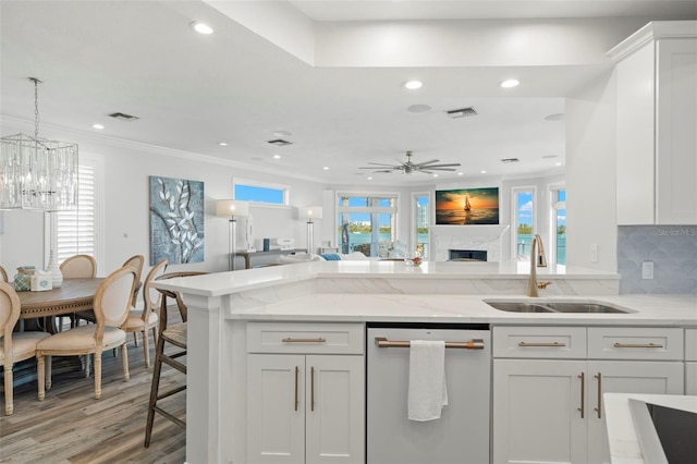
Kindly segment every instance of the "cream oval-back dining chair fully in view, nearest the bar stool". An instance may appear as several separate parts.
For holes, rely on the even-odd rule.
[[[101,398],[101,353],[121,346],[123,380],[129,381],[126,332],[121,326],[131,309],[131,295],[135,285],[135,271],[122,267],[111,272],[95,293],[96,323],[78,326],[41,340],[36,346],[38,362],[39,401],[51,388],[51,356],[94,355],[95,399]],[[48,359],[48,363],[46,362]]]

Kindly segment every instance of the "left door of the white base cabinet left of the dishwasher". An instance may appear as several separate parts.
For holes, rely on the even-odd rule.
[[[305,356],[247,356],[247,462],[305,461]]]

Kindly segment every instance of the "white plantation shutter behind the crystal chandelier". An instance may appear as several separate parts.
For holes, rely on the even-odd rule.
[[[96,254],[96,167],[81,160],[77,209],[56,215],[54,249],[58,262],[73,255]]]

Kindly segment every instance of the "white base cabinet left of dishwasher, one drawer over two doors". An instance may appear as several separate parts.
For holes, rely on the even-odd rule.
[[[362,463],[363,325],[247,326],[247,462]]]

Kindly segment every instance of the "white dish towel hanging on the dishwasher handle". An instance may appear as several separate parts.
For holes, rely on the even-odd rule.
[[[407,405],[409,420],[439,419],[445,405],[445,342],[412,340]]]

